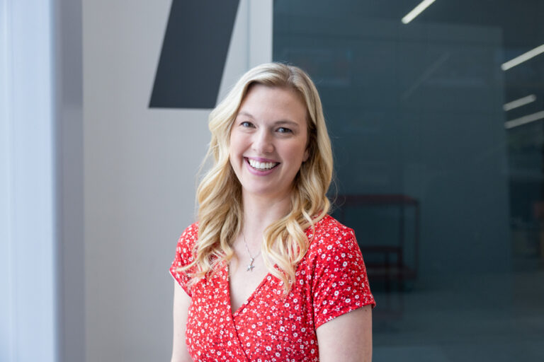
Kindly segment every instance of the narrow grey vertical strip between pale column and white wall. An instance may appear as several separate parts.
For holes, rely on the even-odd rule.
[[[55,178],[59,361],[85,358],[83,54],[81,0],[57,0]]]

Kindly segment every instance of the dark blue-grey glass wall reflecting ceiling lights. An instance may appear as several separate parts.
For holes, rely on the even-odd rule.
[[[544,1],[404,18],[419,2],[274,2],[274,60],[322,95],[374,361],[544,361]]]

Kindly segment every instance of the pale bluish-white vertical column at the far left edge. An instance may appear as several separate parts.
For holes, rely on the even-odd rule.
[[[51,1],[0,4],[0,359],[52,362],[57,286]]]

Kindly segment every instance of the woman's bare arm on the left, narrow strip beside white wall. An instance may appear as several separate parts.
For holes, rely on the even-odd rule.
[[[171,362],[193,362],[185,343],[185,329],[191,297],[174,281],[174,342]]]

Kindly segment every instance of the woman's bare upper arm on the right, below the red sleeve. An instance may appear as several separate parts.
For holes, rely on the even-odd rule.
[[[353,310],[317,328],[319,361],[372,361],[372,307]]]

